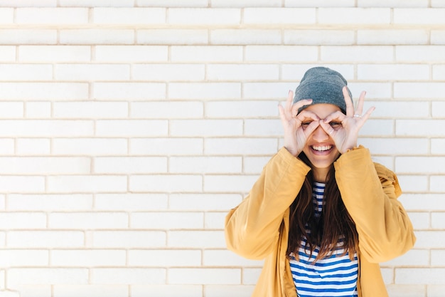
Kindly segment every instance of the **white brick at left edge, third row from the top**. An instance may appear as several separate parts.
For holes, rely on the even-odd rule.
[[[57,30],[54,29],[2,29],[1,44],[55,44],[57,43]],[[3,58],[2,58],[3,59]]]

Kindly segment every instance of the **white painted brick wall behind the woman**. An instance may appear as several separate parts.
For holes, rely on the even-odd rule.
[[[0,0],[0,297],[250,296],[223,219],[316,65],[400,177],[390,296],[444,296],[444,0]]]

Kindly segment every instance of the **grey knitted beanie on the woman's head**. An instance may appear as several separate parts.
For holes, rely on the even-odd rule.
[[[296,88],[293,103],[302,99],[312,99],[312,104],[329,103],[337,105],[341,112],[346,114],[346,103],[342,90],[345,85],[348,85],[348,82],[337,71],[326,67],[311,68],[304,73],[299,86]],[[349,88],[348,93],[352,99],[353,95]],[[306,107],[307,105],[300,108],[299,112]]]

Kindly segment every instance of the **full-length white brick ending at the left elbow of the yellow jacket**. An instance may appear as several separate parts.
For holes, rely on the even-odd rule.
[[[224,231],[168,231],[168,247],[225,249]]]

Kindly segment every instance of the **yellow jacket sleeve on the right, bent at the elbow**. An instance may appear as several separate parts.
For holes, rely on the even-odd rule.
[[[414,246],[411,221],[397,197],[397,177],[372,162],[364,147],[345,152],[334,163],[336,181],[358,231],[362,256],[374,263],[400,256]]]

